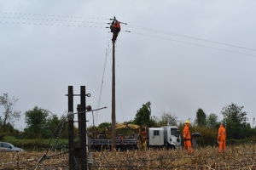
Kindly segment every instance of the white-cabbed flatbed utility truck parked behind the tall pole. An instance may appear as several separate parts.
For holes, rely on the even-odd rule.
[[[146,127],[135,124],[119,123],[116,129],[129,128],[136,132],[131,136],[116,134],[116,148],[119,150],[146,150],[147,148],[177,149],[181,147],[181,139],[176,126]],[[108,138],[110,130],[89,138],[90,148],[93,150],[111,149],[112,139]]]

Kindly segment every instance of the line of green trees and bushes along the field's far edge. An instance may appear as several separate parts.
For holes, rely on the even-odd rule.
[[[30,111],[26,111],[25,122],[26,127],[20,131],[14,128],[15,120],[19,120],[20,111],[15,111],[14,106],[18,99],[9,98],[8,94],[0,96],[0,106],[3,106],[3,116],[0,116],[0,139],[4,135],[13,135],[17,139],[49,139],[55,133],[56,127],[61,127],[61,122],[65,122],[65,116],[58,117],[50,111],[35,106]],[[182,132],[185,120],[179,120],[178,116],[170,112],[161,111],[159,116],[153,116],[151,113],[151,103],[148,101],[137,110],[134,119],[127,121],[128,123],[137,124],[148,127],[162,127],[170,124],[177,126]],[[203,109],[198,108],[195,111],[195,120],[190,121],[190,133],[201,133],[203,138],[198,139],[199,144],[214,144],[217,141],[217,132],[220,122],[224,122],[227,131],[227,139],[230,141],[237,139],[247,139],[256,137],[256,128],[252,127],[247,119],[247,112],[243,111],[244,106],[239,106],[231,103],[224,106],[220,113],[223,119],[220,120],[214,113],[207,115]],[[254,118],[253,118],[254,123]],[[65,123],[63,123],[65,124]],[[95,129],[102,131],[111,125],[110,122],[102,122],[97,127],[88,127],[88,130]],[[62,139],[67,139],[67,123],[61,133]],[[78,127],[74,127],[75,137],[78,136]],[[121,133],[125,133],[124,130]]]

